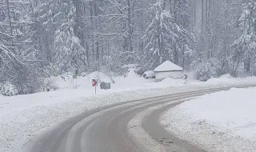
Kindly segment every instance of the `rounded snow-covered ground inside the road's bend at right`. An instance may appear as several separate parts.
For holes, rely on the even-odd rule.
[[[173,134],[210,151],[256,151],[256,88],[206,94],[166,111]]]

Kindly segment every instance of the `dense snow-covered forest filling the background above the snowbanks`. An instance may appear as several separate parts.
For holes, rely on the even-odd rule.
[[[0,0],[0,90],[170,60],[206,81],[256,74],[255,0]]]

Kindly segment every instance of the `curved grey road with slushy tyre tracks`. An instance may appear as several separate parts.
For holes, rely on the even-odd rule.
[[[105,106],[62,122],[31,140],[26,152],[189,151],[198,147],[175,138],[158,123],[164,111],[196,96],[230,88],[191,91]]]

